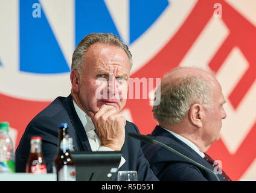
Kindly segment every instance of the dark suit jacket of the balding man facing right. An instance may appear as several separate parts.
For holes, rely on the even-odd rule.
[[[168,145],[179,153],[184,154],[190,159],[193,159],[197,163],[205,166],[206,168],[214,170],[213,166],[210,165],[205,159],[196,153],[187,144],[176,138],[173,134],[166,131],[164,128],[159,126],[155,127],[152,134],[155,140]],[[149,160],[150,168],[156,174],[156,177],[160,181],[164,180],[175,180],[175,181],[203,181],[203,180],[217,180],[214,174],[211,174],[205,169],[194,165],[183,157],[174,154],[166,148],[157,144],[144,144],[142,143],[142,150],[144,151],[145,157]],[[225,180],[221,175],[217,175],[220,180]]]

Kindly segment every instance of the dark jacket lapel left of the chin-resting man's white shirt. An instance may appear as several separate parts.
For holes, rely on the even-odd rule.
[[[75,112],[75,107],[73,104],[72,96],[69,95],[64,101],[63,104],[66,107],[69,118],[71,119],[72,125],[77,133],[78,139],[80,139],[84,151],[92,151],[91,145],[89,144],[85,128],[78,118],[77,113]]]

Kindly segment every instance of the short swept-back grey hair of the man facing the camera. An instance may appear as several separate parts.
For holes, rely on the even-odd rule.
[[[112,33],[91,33],[85,36],[85,38],[78,43],[77,48],[75,48],[72,55],[71,69],[77,70],[80,77],[82,76],[83,72],[83,60],[85,59],[86,51],[88,51],[88,48],[91,45],[97,42],[122,48],[126,52],[130,60],[130,68],[132,68],[132,54],[130,53],[128,46],[121,41],[120,37]]]

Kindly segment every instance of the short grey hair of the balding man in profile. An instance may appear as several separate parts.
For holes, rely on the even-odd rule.
[[[161,124],[174,125],[182,122],[190,107],[200,103],[211,109],[211,86],[201,77],[176,78],[175,81],[162,81],[161,101],[153,106],[153,116]]]

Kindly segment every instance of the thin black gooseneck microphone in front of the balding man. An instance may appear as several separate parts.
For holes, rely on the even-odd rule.
[[[158,144],[161,145],[162,147],[167,148],[167,150],[177,154],[178,156],[183,157],[184,159],[190,161],[191,163],[194,163],[194,165],[199,166],[202,169],[205,169],[206,171],[210,172],[211,174],[214,174],[214,176],[216,177],[217,181],[220,181],[219,177],[217,176],[217,174],[215,174],[213,171],[211,171],[211,169],[206,168],[205,166],[203,166],[200,163],[197,163],[196,161],[194,161],[193,159],[190,159],[189,157],[185,156],[182,153],[179,153],[179,151],[174,150],[173,148],[169,147],[168,145],[163,144],[162,142],[159,142],[157,140],[155,140],[153,137],[150,136],[146,136],[144,134],[138,134],[138,133],[128,133],[129,136],[131,136],[132,138],[138,139],[139,141],[144,141],[146,143],[149,144]]]

